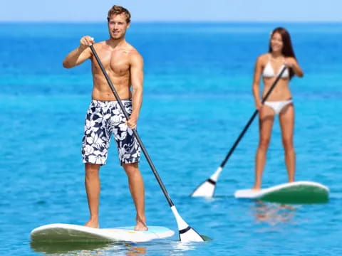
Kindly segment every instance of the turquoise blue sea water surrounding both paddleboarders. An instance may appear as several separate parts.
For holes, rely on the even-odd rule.
[[[81,137],[90,101],[90,64],[65,70],[79,38],[107,38],[105,24],[0,23],[1,255],[340,255],[342,26],[286,23],[303,79],[294,78],[298,181],[331,190],[324,204],[237,200],[254,181],[257,122],[227,162],[212,199],[190,198],[254,112],[252,72],[275,23],[133,23],[127,39],[145,58],[139,134],[182,218],[212,240],[174,237],[138,245],[32,247],[29,233],[48,223],[88,218]],[[175,230],[175,218],[145,158],[149,225]],[[112,146],[101,169],[100,225],[133,225],[134,208]],[[286,181],[275,122],[263,186]]]

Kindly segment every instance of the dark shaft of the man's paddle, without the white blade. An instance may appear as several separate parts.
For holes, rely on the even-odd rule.
[[[95,59],[98,62],[98,65],[100,65],[100,68],[101,68],[101,70],[103,72],[103,75],[105,75],[105,80],[107,80],[108,85],[110,86],[110,89],[113,91],[115,99],[118,101],[121,110],[123,110],[123,114],[125,115],[126,119],[130,119],[127,111],[125,110],[125,107],[123,106],[123,102],[121,102],[121,100],[120,100],[118,92],[116,92],[115,87],[113,86],[113,83],[110,81],[110,78],[109,78],[107,72],[105,72],[105,68],[103,67],[103,65],[101,63],[100,58],[98,58],[98,53],[96,53],[95,48],[93,47],[93,45],[90,46],[90,50],[93,52],[93,55],[95,56]],[[132,131],[133,131],[133,134],[135,135],[135,138],[138,140],[138,142],[140,144],[140,148],[142,149],[142,152],[144,153],[144,155],[145,155],[145,157],[147,159],[148,164],[150,164],[150,167],[152,169],[153,174],[155,174],[155,178],[157,178],[157,182],[159,183],[160,188],[162,188],[162,193],[164,193],[165,198],[167,199],[167,202],[169,203],[170,207],[175,206],[172,203],[172,200],[171,200],[169,194],[167,193],[166,188],[165,188],[164,184],[162,183],[162,180],[160,179],[159,174],[157,173],[157,169],[155,169],[155,166],[152,163],[152,160],[150,159],[150,156],[148,155],[147,150],[145,149],[145,146],[142,144],[142,141],[141,141],[141,139],[140,139],[140,137],[138,135],[137,130],[136,129],[132,129]]]

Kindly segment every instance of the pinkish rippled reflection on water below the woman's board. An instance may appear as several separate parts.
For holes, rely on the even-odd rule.
[[[252,206],[252,212],[259,223],[277,225],[291,222],[296,214],[296,208],[285,204],[256,201]]]

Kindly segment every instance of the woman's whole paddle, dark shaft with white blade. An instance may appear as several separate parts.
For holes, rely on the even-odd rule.
[[[279,75],[276,77],[276,80],[274,80],[274,83],[271,85],[271,88],[269,88],[269,91],[266,93],[265,97],[262,99],[261,104],[264,104],[267,97],[269,97],[272,90],[276,86],[276,83],[279,81],[279,79],[281,78],[281,75],[284,73],[285,69],[286,69],[286,66],[284,65],[284,68],[281,69]],[[252,124],[254,118],[257,117],[257,114],[258,114],[258,110],[255,110],[254,113],[252,114],[252,117],[249,119],[246,126],[244,127],[242,132],[239,134],[239,137],[237,137],[237,140],[234,142],[232,148],[229,150],[227,156],[224,158],[224,160],[222,161],[219,168],[217,168],[217,170],[214,172],[214,174],[212,174],[212,176],[207,178],[206,181],[204,181],[199,186],[197,186],[195,191],[193,191],[190,196],[204,196],[204,197],[214,196],[216,183],[217,183],[217,179],[219,178],[219,174],[221,174],[221,171],[222,171],[224,165],[227,163],[229,157],[233,154],[234,149],[237,147],[237,144],[239,144],[240,140],[242,139],[244,134],[247,132],[247,129]]]

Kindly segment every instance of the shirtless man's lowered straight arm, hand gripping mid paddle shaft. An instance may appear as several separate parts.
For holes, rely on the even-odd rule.
[[[131,129],[137,127],[137,120],[142,105],[142,84],[144,79],[144,62],[141,55],[136,52],[131,57],[130,63],[130,81],[132,83],[132,114],[127,124]]]

